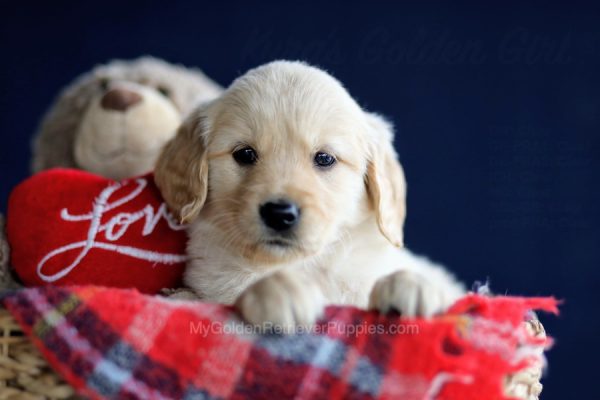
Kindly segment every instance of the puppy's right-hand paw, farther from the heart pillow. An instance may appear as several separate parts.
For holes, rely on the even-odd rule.
[[[434,284],[414,271],[397,271],[378,280],[371,290],[369,309],[404,317],[431,317],[452,305],[452,288]]]

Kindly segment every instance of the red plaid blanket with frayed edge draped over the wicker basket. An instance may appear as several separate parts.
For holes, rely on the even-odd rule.
[[[44,287],[2,302],[81,394],[108,399],[505,399],[540,354],[521,322],[551,298],[470,295],[406,320],[329,307],[310,332],[260,335],[224,306]]]

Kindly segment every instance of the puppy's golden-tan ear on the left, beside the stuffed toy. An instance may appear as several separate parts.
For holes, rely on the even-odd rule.
[[[181,223],[195,219],[208,192],[206,117],[194,111],[162,150],[154,180],[171,212]]]

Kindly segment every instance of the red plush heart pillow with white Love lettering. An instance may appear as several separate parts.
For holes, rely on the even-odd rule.
[[[156,293],[179,287],[186,234],[152,175],[115,182],[53,169],[10,195],[7,236],[23,283],[94,284]]]

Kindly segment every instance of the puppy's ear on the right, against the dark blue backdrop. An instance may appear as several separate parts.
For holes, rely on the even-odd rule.
[[[366,113],[371,129],[367,165],[367,192],[381,233],[394,246],[404,246],[406,180],[394,150],[391,124],[376,114]]]

